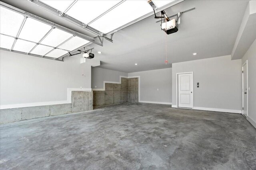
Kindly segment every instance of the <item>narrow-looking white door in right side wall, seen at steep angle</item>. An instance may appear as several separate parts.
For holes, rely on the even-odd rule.
[[[247,100],[248,100],[248,98],[247,98],[247,93],[248,93],[248,86],[247,86],[247,63],[245,63],[244,65],[243,65],[243,68],[242,68],[242,70],[243,70],[243,73],[242,73],[242,78],[243,78],[243,84],[242,84],[242,86],[243,86],[243,90],[242,90],[242,92],[243,92],[243,109],[242,109],[242,112],[243,112],[243,115],[245,115],[246,117],[247,117],[247,114],[248,114],[248,108],[247,108]]]

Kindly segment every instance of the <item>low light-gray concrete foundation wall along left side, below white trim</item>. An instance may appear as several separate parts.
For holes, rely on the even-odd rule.
[[[72,91],[72,103],[69,104],[1,109],[0,124],[34,119],[39,117],[48,117],[68,113],[76,113],[81,111],[89,111],[93,109],[92,103],[92,92]]]

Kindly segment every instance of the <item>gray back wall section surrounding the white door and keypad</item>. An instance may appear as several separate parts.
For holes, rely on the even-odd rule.
[[[241,70],[241,59],[231,61],[230,55],[174,63],[172,104],[176,105],[176,73],[194,72],[194,107],[241,110]]]

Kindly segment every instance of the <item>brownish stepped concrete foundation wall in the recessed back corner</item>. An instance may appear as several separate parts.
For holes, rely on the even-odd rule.
[[[93,91],[93,106],[138,102],[138,78],[121,78],[121,84],[106,83],[105,91]]]

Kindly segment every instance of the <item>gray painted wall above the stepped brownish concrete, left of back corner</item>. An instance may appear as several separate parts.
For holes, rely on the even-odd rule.
[[[120,82],[120,76],[127,77],[128,74],[126,72],[92,67],[92,88],[103,88],[104,81]]]

